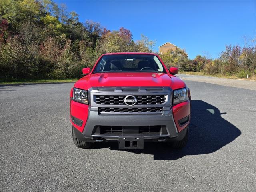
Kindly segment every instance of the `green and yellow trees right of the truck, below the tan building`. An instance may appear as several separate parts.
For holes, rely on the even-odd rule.
[[[216,59],[198,55],[194,59],[188,59],[184,50],[169,50],[162,54],[161,58],[167,66],[176,66],[182,71],[203,72],[205,74],[225,76],[237,76],[245,78],[256,76],[256,45],[255,40],[239,45],[226,45],[224,51]]]

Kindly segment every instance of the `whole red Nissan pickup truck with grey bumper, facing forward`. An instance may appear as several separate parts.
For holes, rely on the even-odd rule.
[[[182,148],[188,141],[191,97],[186,84],[152,53],[110,53],[70,92],[70,120],[77,147],[118,142],[120,149],[142,149],[144,142]]]

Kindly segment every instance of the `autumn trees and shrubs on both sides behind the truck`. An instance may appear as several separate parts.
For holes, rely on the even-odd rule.
[[[110,31],[98,22],[79,21],[76,12],[52,0],[0,0],[0,79],[79,78],[106,52],[153,52],[155,41],[134,41],[130,30]],[[208,74],[256,74],[256,47],[226,46],[217,59],[184,50],[160,55],[167,66]]]

